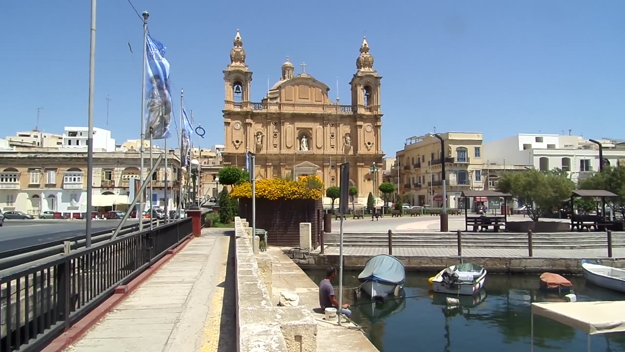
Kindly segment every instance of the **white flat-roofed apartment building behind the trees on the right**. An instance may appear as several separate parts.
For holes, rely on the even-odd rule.
[[[604,165],[625,165],[625,149],[609,140],[599,140]],[[484,143],[487,163],[532,165],[538,170],[561,168],[577,182],[599,170],[599,147],[582,137],[521,133]]]

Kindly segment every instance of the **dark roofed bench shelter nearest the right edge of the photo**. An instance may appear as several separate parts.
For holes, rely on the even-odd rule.
[[[575,214],[574,204],[576,197],[592,197],[601,198],[601,215],[581,215]],[[607,190],[597,189],[578,189],[571,192],[571,230],[577,228],[581,231],[594,227],[595,230],[622,230],[622,222],[614,222],[606,219],[606,198],[618,197],[616,194]]]

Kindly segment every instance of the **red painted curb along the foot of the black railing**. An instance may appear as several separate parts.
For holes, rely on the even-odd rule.
[[[177,252],[184,249],[184,247],[191,242],[193,236],[189,236],[187,241],[184,241],[180,244],[180,246],[168,251],[165,256],[159,259],[158,262],[155,262],[153,266],[148,267],[144,272],[139,274],[139,276],[135,277],[133,281],[128,282],[126,285],[120,285],[116,287],[113,296],[106,299],[102,304],[94,308],[91,312],[89,312],[83,319],[80,319],[76,324],[74,324],[68,331],[65,331],[58,338],[53,339],[53,341],[48,344],[41,352],[62,352],[64,349],[71,346],[71,344],[78,341],[80,338],[84,336],[85,333],[89,331],[98,321],[100,321],[106,314],[108,314],[113,308],[115,308],[121,301],[126,298],[131,292],[133,292],[137,287],[141,286],[141,284],[146,281],[154,272],[159,271],[161,267],[163,267],[166,262],[168,262],[173,256],[176,255]],[[171,254],[169,253],[171,252]]]

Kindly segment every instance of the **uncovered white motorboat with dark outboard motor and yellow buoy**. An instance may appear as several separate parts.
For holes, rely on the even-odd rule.
[[[484,289],[486,269],[474,263],[457,264],[442,269],[428,281],[434,292],[472,296]]]

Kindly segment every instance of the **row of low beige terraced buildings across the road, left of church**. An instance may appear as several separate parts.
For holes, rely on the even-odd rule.
[[[158,156],[158,155],[157,155]],[[156,157],[155,157],[156,159]],[[139,177],[138,152],[96,152],[93,158],[93,204],[108,210],[126,210],[130,202],[130,179]],[[164,164],[153,176],[153,192],[148,202],[170,209],[177,205],[181,195],[180,175],[183,182],[186,172],[180,168],[175,155],[168,157],[168,170]],[[52,210],[68,216],[86,211],[87,153],[48,150],[27,152],[0,152],[0,209],[18,210],[39,215]],[[148,173],[149,160],[146,158]],[[165,199],[165,172],[168,173],[168,196]],[[100,197],[119,195],[119,197]],[[111,199],[115,200],[111,200]],[[103,203],[104,202],[104,203]],[[113,202],[108,204],[106,202]],[[103,210],[104,210],[103,208]]]

